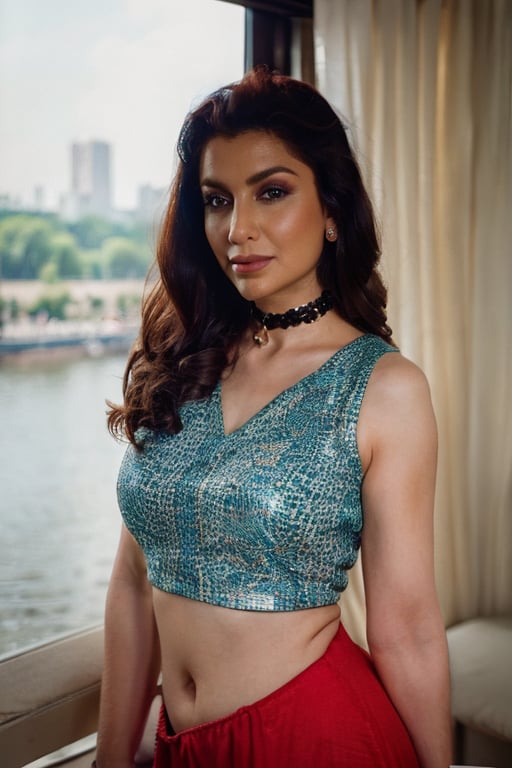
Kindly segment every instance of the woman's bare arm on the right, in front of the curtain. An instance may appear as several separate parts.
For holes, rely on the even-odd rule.
[[[383,358],[360,424],[370,653],[422,768],[447,768],[449,668],[433,557],[437,432],[421,371],[396,354]]]

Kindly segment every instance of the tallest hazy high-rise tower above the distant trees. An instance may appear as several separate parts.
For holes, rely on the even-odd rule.
[[[88,141],[72,145],[70,202],[75,216],[111,215],[110,166],[110,144]]]

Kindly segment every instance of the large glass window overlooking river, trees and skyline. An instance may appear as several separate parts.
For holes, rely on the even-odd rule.
[[[0,0],[0,655],[102,620],[124,450],[105,400],[179,126],[243,43],[218,0]]]

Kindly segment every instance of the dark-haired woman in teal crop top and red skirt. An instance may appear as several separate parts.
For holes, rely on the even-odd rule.
[[[98,768],[133,765],[160,670],[157,766],[446,768],[436,429],[391,341],[344,129],[256,70],[188,116],[178,151],[110,414],[132,445]],[[360,546],[370,655],[337,602]]]

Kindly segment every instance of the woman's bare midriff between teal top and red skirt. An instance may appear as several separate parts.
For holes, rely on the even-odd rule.
[[[153,590],[162,691],[176,733],[263,698],[313,664],[339,625],[337,604],[240,611]]]

